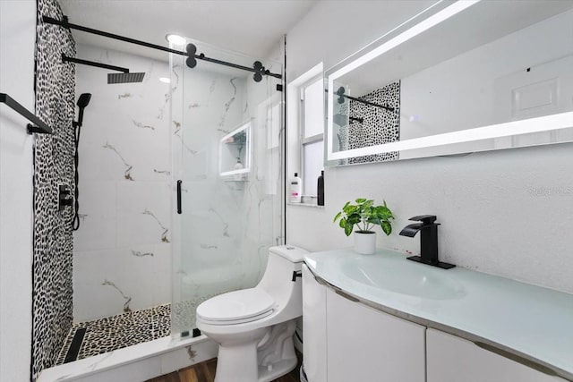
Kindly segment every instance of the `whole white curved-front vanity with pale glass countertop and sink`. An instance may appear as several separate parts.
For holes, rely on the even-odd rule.
[[[384,249],[304,261],[310,382],[573,382],[573,294]]]

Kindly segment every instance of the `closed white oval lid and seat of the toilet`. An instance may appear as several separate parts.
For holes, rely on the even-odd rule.
[[[275,301],[259,288],[244,289],[218,295],[197,307],[197,318],[210,322],[257,319],[270,314]]]

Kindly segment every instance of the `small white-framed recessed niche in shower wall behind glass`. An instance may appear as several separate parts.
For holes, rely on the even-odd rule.
[[[241,124],[219,141],[219,175],[226,181],[244,182],[251,171],[252,122]]]

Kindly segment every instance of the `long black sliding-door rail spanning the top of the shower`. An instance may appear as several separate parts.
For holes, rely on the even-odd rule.
[[[202,60],[202,61],[207,61],[207,62],[210,62],[213,64],[225,65],[225,66],[229,66],[229,67],[232,67],[235,69],[241,69],[241,70],[248,71],[248,72],[260,73],[261,75],[268,75],[268,76],[271,76],[274,78],[282,79],[281,74],[265,71],[264,68],[262,68],[263,70],[260,70],[260,69],[250,68],[250,67],[244,66],[244,65],[227,63],[226,61],[218,60],[216,58],[206,57],[202,53],[200,55],[189,54],[189,53],[183,52],[181,50],[172,49],[170,47],[162,47],[160,45],[151,44],[149,42],[141,41],[141,40],[138,40],[135,38],[126,38],[124,36],[116,35],[114,33],[108,33],[108,32],[103,31],[103,30],[94,30],[92,28],[82,27],[81,25],[77,25],[77,24],[73,24],[73,23],[69,22],[67,16],[64,16],[62,21],[56,20],[52,17],[42,16],[42,21],[46,22],[47,24],[59,25],[61,27],[67,28],[67,29],[81,30],[82,32],[91,33],[91,34],[103,36],[106,38],[114,38],[114,39],[117,39],[120,41],[139,45],[141,47],[150,47],[151,49],[162,50],[162,51],[167,52],[167,53],[173,53],[174,55],[186,55],[186,56],[193,57],[195,59]]]

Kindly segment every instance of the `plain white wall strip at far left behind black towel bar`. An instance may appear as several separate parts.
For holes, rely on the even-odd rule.
[[[34,111],[36,2],[0,1],[0,91]],[[30,380],[32,144],[0,106],[0,381]]]

